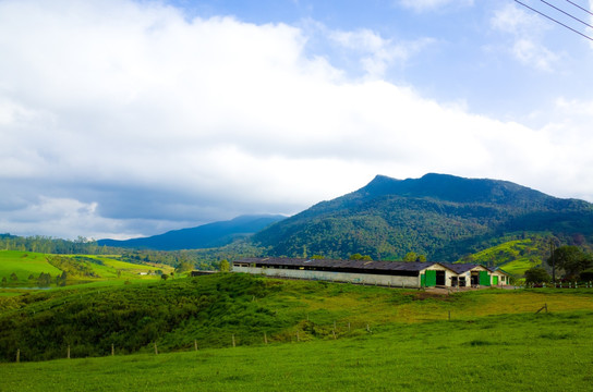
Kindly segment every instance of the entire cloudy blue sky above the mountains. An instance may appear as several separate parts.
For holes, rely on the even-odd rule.
[[[290,216],[376,174],[593,201],[591,70],[511,0],[0,0],[0,233]]]

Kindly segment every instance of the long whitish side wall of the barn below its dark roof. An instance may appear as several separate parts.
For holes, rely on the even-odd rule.
[[[397,277],[379,275],[372,273],[347,273],[329,271],[308,271],[276,268],[256,268],[256,267],[232,267],[233,272],[246,272],[253,274],[265,274],[276,278],[294,278],[308,280],[323,280],[332,282],[347,282],[360,284],[378,284],[392,287],[420,287],[420,277]],[[450,283],[449,283],[450,284]]]

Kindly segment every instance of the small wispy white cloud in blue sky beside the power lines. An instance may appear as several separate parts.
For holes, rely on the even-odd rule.
[[[491,19],[495,30],[510,35],[511,45],[503,50],[510,52],[521,63],[540,71],[552,72],[561,60],[542,44],[548,26],[534,13],[528,13],[516,4],[505,4]]]

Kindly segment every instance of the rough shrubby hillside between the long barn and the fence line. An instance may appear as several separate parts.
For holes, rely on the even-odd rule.
[[[529,314],[591,311],[589,290],[438,295],[239,273],[77,286],[0,297],[0,362],[335,341],[413,323]],[[372,305],[372,306],[370,306]],[[488,321],[492,324],[492,319]],[[462,322],[461,324],[465,324]],[[414,329],[410,329],[411,333]]]

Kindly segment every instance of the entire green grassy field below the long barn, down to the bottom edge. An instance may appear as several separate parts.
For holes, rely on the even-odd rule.
[[[535,314],[544,304],[548,313]],[[0,390],[583,391],[592,331],[586,289],[435,295],[241,274],[113,281],[0,298]],[[72,359],[29,362],[64,358],[68,345]]]

